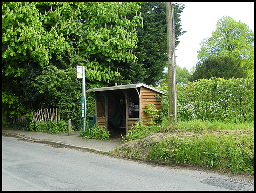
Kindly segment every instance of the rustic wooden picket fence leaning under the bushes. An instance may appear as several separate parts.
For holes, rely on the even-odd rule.
[[[63,117],[63,114],[60,113],[59,109],[57,108],[55,108],[55,111],[54,108],[50,110],[44,108],[44,111],[42,109],[31,110],[31,114],[34,123],[39,121],[43,121],[44,123],[46,123],[48,120],[58,122]]]

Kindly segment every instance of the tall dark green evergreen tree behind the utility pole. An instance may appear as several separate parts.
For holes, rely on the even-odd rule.
[[[180,24],[180,14],[183,4],[177,4],[175,11],[175,40],[184,34]],[[163,78],[164,68],[167,66],[167,26],[165,2],[144,2],[141,5],[143,27],[137,28],[138,48],[133,49],[138,60],[127,66],[121,62],[118,70],[121,77],[116,79],[119,84],[139,83],[156,85]]]

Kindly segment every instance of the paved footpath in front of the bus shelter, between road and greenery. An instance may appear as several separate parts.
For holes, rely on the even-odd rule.
[[[68,135],[68,133],[48,134],[43,132],[32,132],[2,127],[2,135],[18,137],[37,143],[105,153],[113,151],[115,147],[118,147],[124,143],[120,138],[111,138],[110,140],[86,139],[79,137],[79,131],[72,132],[71,135]]]

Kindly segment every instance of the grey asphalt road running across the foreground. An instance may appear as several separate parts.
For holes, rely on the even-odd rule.
[[[254,191],[227,179],[2,136],[2,191]]]

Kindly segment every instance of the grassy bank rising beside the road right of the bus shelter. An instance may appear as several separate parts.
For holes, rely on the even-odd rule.
[[[158,140],[153,140],[160,134]],[[148,127],[145,135],[141,131],[139,136],[131,135],[136,139],[130,140],[131,144],[120,146],[113,154],[169,165],[189,164],[227,173],[254,175],[254,123],[196,120],[169,126],[165,121]]]

